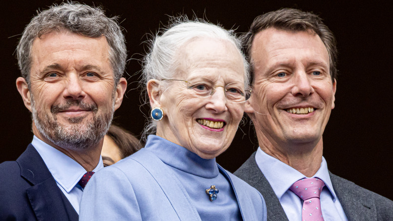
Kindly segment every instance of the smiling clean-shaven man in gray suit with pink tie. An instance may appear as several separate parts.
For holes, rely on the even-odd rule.
[[[253,78],[245,112],[260,148],[235,175],[263,194],[268,220],[393,220],[391,200],[331,174],[322,156],[337,78],[329,28],[312,13],[281,9],[258,16],[244,43]]]

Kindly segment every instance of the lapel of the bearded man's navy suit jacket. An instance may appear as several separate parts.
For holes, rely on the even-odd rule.
[[[31,144],[17,162],[21,176],[32,185],[26,189],[26,193],[38,220],[78,220],[78,213],[58,188],[45,162]]]

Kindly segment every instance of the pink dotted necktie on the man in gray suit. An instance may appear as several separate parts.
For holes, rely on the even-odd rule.
[[[307,178],[296,181],[289,188],[303,200],[303,221],[323,221],[319,197],[324,186],[323,181],[318,178]]]

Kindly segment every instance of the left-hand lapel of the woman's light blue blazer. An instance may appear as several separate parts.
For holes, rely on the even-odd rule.
[[[184,186],[173,172],[168,169],[167,165],[150,151],[145,151],[144,155],[142,155],[143,154],[135,154],[133,158],[141,163],[154,177],[168,197],[168,200],[171,202],[179,219],[201,221],[197,208],[189,201],[190,197]],[[146,157],[146,155],[148,155],[148,157]]]

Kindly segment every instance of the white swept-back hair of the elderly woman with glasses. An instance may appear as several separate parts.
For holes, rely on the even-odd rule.
[[[161,29],[153,39],[147,41],[149,50],[143,59],[142,88],[146,90],[147,82],[151,79],[173,78],[178,65],[178,49],[188,41],[201,37],[227,40],[238,49],[243,58],[244,85],[248,87],[249,66],[242,52],[241,40],[235,35],[234,30],[225,30],[219,24],[214,25],[203,19],[189,20],[186,16],[179,16],[172,18],[167,28]],[[156,122],[150,119],[149,115],[142,137],[155,133],[156,127]]]

